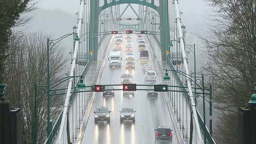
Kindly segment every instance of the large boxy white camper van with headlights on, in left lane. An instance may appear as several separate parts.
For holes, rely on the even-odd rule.
[[[119,50],[112,50],[108,57],[110,67],[121,67],[122,54]]]

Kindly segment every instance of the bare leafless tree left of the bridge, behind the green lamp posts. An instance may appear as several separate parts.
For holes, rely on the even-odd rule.
[[[12,36],[6,59],[4,81],[8,84],[8,92],[5,96],[14,107],[22,109],[22,139],[24,144],[30,144],[34,132],[34,85],[35,82],[38,85],[47,84],[47,38],[51,36],[43,35],[42,32],[14,33]],[[62,77],[60,72],[67,64],[67,56],[63,51],[64,48],[58,44],[50,50],[50,83]],[[47,87],[41,88],[47,90]],[[47,136],[47,96],[43,93],[38,88],[37,98],[42,96],[37,102],[38,144],[44,142]],[[62,100],[61,96],[53,99],[50,119],[56,120],[60,113],[55,108],[62,108]]]

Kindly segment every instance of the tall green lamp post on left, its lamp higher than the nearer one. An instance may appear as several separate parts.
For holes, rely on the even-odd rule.
[[[80,41],[80,38],[78,37],[77,33],[72,33],[72,34],[66,34],[56,40],[49,40],[49,38],[47,38],[47,136],[50,135],[51,131],[52,131],[52,122],[50,122],[50,66],[49,66],[49,51],[51,50],[51,48],[53,48],[53,46],[55,46],[55,44],[57,44],[58,42],[60,42],[62,39],[70,36],[70,35],[74,35],[76,34],[76,38],[74,39],[74,41]],[[57,41],[56,43],[54,43],[54,41]],[[49,48],[50,43],[53,43],[53,45]]]

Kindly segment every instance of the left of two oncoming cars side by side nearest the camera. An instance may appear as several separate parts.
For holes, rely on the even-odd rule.
[[[106,106],[98,106],[94,111],[94,122],[108,121],[110,122],[110,110]]]

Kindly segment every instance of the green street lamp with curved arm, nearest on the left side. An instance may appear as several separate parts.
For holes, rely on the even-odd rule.
[[[86,89],[86,85],[84,84],[84,80],[82,79],[82,75],[81,76],[67,76],[65,78],[62,78],[52,84],[47,84],[47,85],[42,85],[42,86],[38,86],[37,83],[35,82],[35,92],[34,92],[34,144],[36,144],[37,141],[37,122],[36,122],[36,117],[37,117],[37,102],[47,93],[47,96],[50,96],[50,90],[52,90],[55,86],[61,84],[62,82],[65,82],[66,80],[69,80],[70,78],[75,78],[75,77],[80,77],[80,83],[77,85],[77,89]],[[50,88],[50,86],[54,85],[52,88]],[[42,94],[42,96],[40,96],[37,99],[37,87],[45,87],[47,86],[47,91],[44,88],[40,88],[39,90],[43,90],[44,94]],[[50,108],[50,98],[47,97],[47,108]],[[48,116],[48,126],[50,125],[50,110],[48,111],[47,109],[47,116]],[[47,126],[47,127],[48,127]]]

